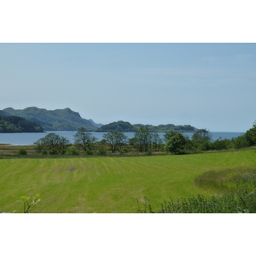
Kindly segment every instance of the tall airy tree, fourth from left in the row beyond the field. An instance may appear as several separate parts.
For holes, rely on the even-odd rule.
[[[147,127],[140,127],[134,133],[135,144],[140,152],[147,152],[152,143],[152,136]]]

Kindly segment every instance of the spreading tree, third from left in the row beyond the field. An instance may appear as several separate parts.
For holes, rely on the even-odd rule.
[[[112,153],[117,149],[121,150],[122,146],[127,141],[127,137],[121,131],[109,131],[107,134],[103,135],[103,138],[107,141]]]

